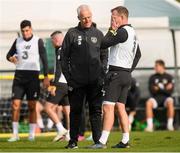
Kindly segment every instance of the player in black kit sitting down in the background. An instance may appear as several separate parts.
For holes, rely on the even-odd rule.
[[[174,79],[166,72],[163,60],[156,60],[154,69],[156,73],[149,79],[151,98],[146,102],[147,128],[145,131],[153,131],[153,109],[159,106],[167,108],[167,129],[173,131],[174,100],[171,95],[174,89]]]

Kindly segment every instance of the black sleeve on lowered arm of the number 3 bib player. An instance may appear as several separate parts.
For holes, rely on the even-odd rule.
[[[47,76],[48,75],[48,60],[47,60],[46,49],[44,47],[44,42],[42,39],[39,39],[38,47],[39,47],[39,55],[40,55],[42,65],[43,65],[44,76]]]

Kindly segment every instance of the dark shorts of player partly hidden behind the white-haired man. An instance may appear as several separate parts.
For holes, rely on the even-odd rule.
[[[51,94],[48,95],[47,101],[53,104],[58,104],[62,106],[68,106],[69,100],[68,100],[68,86],[66,83],[59,83],[58,86],[56,86],[56,95],[53,96]]]

